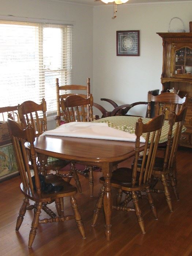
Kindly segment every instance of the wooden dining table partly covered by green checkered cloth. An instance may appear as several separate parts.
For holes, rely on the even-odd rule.
[[[134,133],[138,118],[139,117],[114,116],[102,118],[93,123],[107,123],[109,127]],[[142,120],[143,123],[147,123],[150,118],[142,118]],[[166,142],[168,129],[169,124],[165,121],[160,138],[161,143]],[[110,241],[112,235],[112,187],[110,179],[112,177],[113,166],[135,155],[135,142],[118,139],[108,140],[61,135],[55,136],[45,133],[44,136],[35,138],[34,146],[36,152],[42,155],[101,167],[105,179],[103,198],[105,236],[106,240]],[[140,142],[139,151],[141,152],[143,150],[144,143]]]

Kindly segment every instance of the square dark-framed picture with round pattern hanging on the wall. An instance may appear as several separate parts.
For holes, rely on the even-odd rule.
[[[139,56],[139,30],[116,31],[117,56]]]

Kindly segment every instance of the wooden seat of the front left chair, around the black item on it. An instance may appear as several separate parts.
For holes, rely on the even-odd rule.
[[[57,194],[59,194],[59,197],[64,196],[70,196],[75,195],[77,193],[77,188],[71,185],[69,182],[63,180],[61,177],[55,175],[55,174],[48,174],[45,177],[45,183],[46,184],[52,184],[53,186],[62,186],[63,189],[60,191],[52,191],[51,193],[41,192],[41,197],[38,196],[37,192],[34,192],[34,195],[32,195],[31,191],[30,193],[26,193],[26,190],[23,188],[23,184],[20,184],[20,188],[23,194],[25,194],[27,197],[29,197],[31,200],[36,202],[49,202],[57,198]]]

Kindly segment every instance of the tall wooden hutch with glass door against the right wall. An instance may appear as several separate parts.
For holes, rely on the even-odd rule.
[[[180,97],[187,94],[187,130],[180,146],[192,147],[192,33],[157,34],[163,39],[162,93],[174,87]]]

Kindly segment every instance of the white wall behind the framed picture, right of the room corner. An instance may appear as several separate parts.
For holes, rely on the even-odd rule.
[[[156,32],[167,32],[170,19],[176,16],[184,21],[185,31],[189,32],[192,1],[118,5],[117,18],[112,19],[112,15],[112,6],[94,7],[94,102],[104,105],[100,98],[113,99],[119,105],[146,101],[149,90],[162,90],[162,38]],[[171,25],[175,26],[174,20]],[[140,30],[140,56],[116,56],[117,30]],[[111,109],[109,103],[105,107]],[[133,113],[139,112],[137,109]]]

